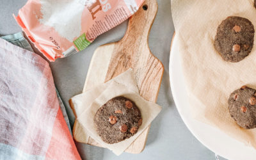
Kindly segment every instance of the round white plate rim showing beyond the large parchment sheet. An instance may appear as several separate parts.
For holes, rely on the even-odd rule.
[[[226,159],[256,159],[256,150],[252,147],[246,147],[220,130],[191,117],[179,55],[177,40],[174,38],[170,53],[170,84],[174,102],[188,129],[205,147]]]

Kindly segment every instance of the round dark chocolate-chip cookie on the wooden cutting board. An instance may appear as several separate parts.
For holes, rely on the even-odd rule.
[[[104,142],[118,143],[138,131],[142,124],[140,109],[130,99],[115,97],[98,109],[94,124]]]

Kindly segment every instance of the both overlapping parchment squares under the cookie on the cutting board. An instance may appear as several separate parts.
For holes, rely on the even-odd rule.
[[[138,132],[131,138],[124,140],[120,143],[109,145],[104,143],[97,134],[96,128],[93,124],[93,118],[97,109],[113,97],[124,96],[136,103],[140,108],[143,123],[140,126]],[[97,143],[100,143],[103,147],[113,150],[116,155],[122,154],[131,143],[138,138],[148,125],[154,120],[154,118],[161,111],[161,107],[154,102],[148,102],[140,97],[134,74],[131,69],[127,70],[120,76],[115,77],[107,83],[100,84],[88,92],[84,92],[80,95],[72,97],[74,108],[77,113],[77,123],[83,125],[83,129],[86,132],[86,138],[92,137]],[[82,110],[83,108],[83,110]]]

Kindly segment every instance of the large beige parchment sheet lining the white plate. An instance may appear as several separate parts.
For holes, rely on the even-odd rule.
[[[245,84],[256,89],[256,40],[250,55],[238,63],[224,61],[214,49],[218,26],[232,15],[249,19],[256,26],[253,0],[172,0],[191,113],[256,148],[256,129],[242,129],[228,113],[230,93]]]

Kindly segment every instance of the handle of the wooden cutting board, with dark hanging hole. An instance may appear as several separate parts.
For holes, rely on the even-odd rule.
[[[150,28],[157,13],[157,1],[145,0],[138,12],[134,13],[129,20],[128,28],[122,42],[136,45],[137,43],[148,42]]]

